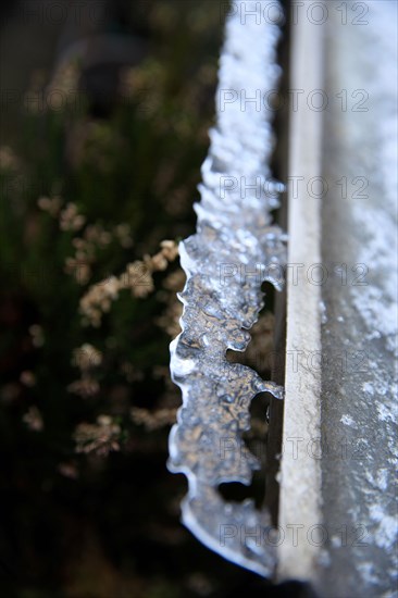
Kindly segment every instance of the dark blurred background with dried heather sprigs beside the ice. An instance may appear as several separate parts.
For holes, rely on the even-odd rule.
[[[1,597],[303,596],[196,540],[166,470],[175,244],[195,231],[225,12],[0,3]],[[264,313],[246,356],[264,375],[272,335]]]

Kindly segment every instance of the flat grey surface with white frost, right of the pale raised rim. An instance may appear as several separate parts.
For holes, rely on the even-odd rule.
[[[323,513],[335,536],[322,573],[326,598],[397,596],[397,2],[363,7],[364,26],[341,26],[337,11],[327,25],[326,91],[368,99],[362,112],[331,107],[325,126],[326,178],[366,184],[323,203],[326,263],[332,271],[345,262],[353,274],[323,288]],[[344,526],[360,541],[338,540]]]

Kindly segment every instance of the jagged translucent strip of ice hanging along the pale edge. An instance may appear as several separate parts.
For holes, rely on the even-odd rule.
[[[252,501],[225,502],[217,486],[250,484],[259,466],[241,438],[250,424],[250,402],[264,390],[282,398],[279,387],[225,357],[227,349],[246,349],[247,329],[263,306],[261,284],[281,287],[285,264],[285,236],[271,226],[270,216],[277,191],[269,166],[271,114],[262,99],[277,83],[279,30],[264,18],[266,4],[234,2],[226,21],[217,123],[202,166],[197,234],[181,244],[187,283],[171,371],[183,407],[170,435],[169,461],[171,471],[188,478],[185,525],[209,548],[264,576],[275,565],[269,514]],[[253,11],[257,18],[249,14]]]

